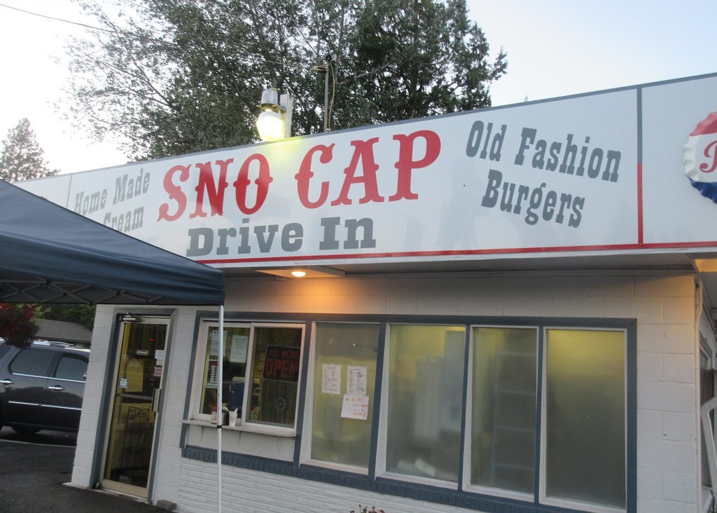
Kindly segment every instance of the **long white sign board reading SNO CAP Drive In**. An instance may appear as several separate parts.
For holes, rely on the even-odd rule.
[[[715,111],[698,77],[19,185],[224,266],[717,246],[683,165]]]

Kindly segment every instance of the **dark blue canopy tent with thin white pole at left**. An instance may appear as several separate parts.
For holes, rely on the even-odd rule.
[[[3,180],[0,303],[219,306],[224,354],[221,270],[105,227]],[[217,403],[222,404],[222,387]],[[221,423],[217,427],[221,511]]]

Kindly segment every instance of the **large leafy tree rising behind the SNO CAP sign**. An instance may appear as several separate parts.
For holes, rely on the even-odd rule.
[[[351,128],[488,106],[507,65],[465,0],[76,1],[98,30],[68,50],[72,117],[135,159],[257,141],[268,86],[300,135],[323,128],[324,73]]]

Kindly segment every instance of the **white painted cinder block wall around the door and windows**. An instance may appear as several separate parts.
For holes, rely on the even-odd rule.
[[[638,511],[692,513],[699,509],[699,353],[694,276],[503,273],[229,280],[226,309],[277,313],[635,318]],[[92,340],[92,362],[85,391],[85,404],[89,406],[83,412],[72,476],[73,484],[80,486],[89,486],[93,433],[98,425],[94,407],[100,400],[95,394],[99,394],[103,380],[111,311],[108,307],[98,309]],[[189,364],[194,309],[179,310],[175,330],[166,370],[168,388],[158,441],[160,466],[153,499],[176,502],[180,511],[213,511],[217,486],[215,474],[212,479],[212,465],[181,458],[179,448],[186,387],[192,374]],[[89,386],[90,381],[98,386]],[[242,512],[348,513],[358,509],[359,502],[383,507],[387,513],[462,511],[227,466],[222,474],[224,502],[237,504],[234,510]],[[257,493],[258,485],[252,482],[264,484],[266,493]],[[299,506],[298,494],[307,496],[306,509]],[[316,499],[316,504],[311,503],[314,499],[310,497],[317,495],[325,497]],[[286,509],[280,509],[277,504],[286,504]]]

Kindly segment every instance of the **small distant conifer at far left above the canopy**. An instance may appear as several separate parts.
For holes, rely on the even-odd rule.
[[[44,151],[35,140],[35,133],[27,118],[21,119],[15,128],[7,131],[7,138],[2,141],[2,145],[0,179],[6,182],[49,177],[59,172],[47,166]]]

